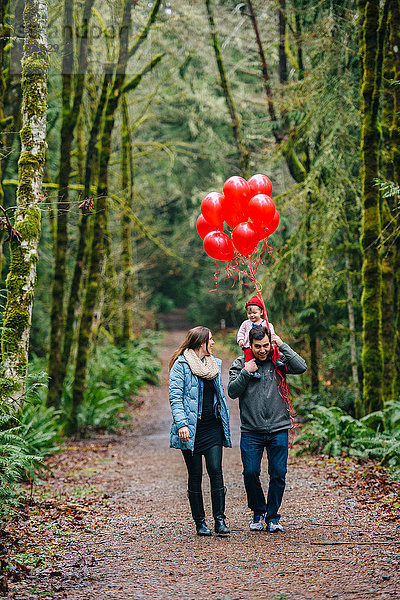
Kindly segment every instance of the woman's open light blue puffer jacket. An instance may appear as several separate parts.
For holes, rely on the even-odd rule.
[[[225,400],[224,389],[221,381],[221,360],[215,359],[219,368],[219,375],[214,379],[214,405],[219,400],[220,416],[224,431],[223,445],[232,447],[229,429],[229,408]],[[169,402],[172,411],[172,426],[170,434],[170,447],[182,450],[193,450],[196,435],[197,417],[201,410],[203,398],[203,382],[193,375],[189,364],[183,354],[178,356],[169,374]],[[200,402],[199,402],[200,399]],[[189,428],[189,441],[182,442],[179,439],[178,429],[183,426]]]

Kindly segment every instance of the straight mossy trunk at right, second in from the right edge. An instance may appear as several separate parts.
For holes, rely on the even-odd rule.
[[[362,317],[364,372],[363,404],[366,413],[382,407],[382,272],[378,249],[381,234],[379,191],[379,123],[380,76],[378,63],[380,26],[379,0],[361,0],[363,77],[361,87],[361,178],[362,178]]]

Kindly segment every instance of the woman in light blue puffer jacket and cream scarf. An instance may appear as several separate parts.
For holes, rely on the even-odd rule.
[[[182,450],[188,470],[188,497],[197,535],[211,535],[204,514],[202,457],[211,483],[215,533],[230,533],[225,523],[222,446],[232,447],[229,408],[221,382],[221,361],[211,354],[214,345],[207,327],[194,327],[172,355],[169,401],[172,411],[171,448]]]

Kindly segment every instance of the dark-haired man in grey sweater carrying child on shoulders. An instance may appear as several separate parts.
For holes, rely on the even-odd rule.
[[[289,412],[279,388],[279,377],[272,362],[271,332],[254,327],[249,333],[254,358],[245,362],[237,358],[229,371],[228,394],[239,398],[243,478],[249,508],[253,511],[251,531],[283,531],[279,507],[285,490],[288,458],[288,430],[292,427]],[[275,333],[272,341],[279,348],[281,373],[304,373],[306,362]],[[252,377],[258,371],[261,379]],[[284,375],[285,376],[285,375]],[[269,487],[267,502],[260,483],[261,459],[267,451]]]

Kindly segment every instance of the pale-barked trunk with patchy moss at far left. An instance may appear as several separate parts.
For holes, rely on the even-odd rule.
[[[36,283],[40,238],[40,194],[46,150],[47,2],[26,0],[25,43],[22,60],[21,155],[18,162],[15,229],[21,243],[12,240],[7,277],[7,305],[2,337],[2,376],[24,390],[28,366],[29,333]]]

